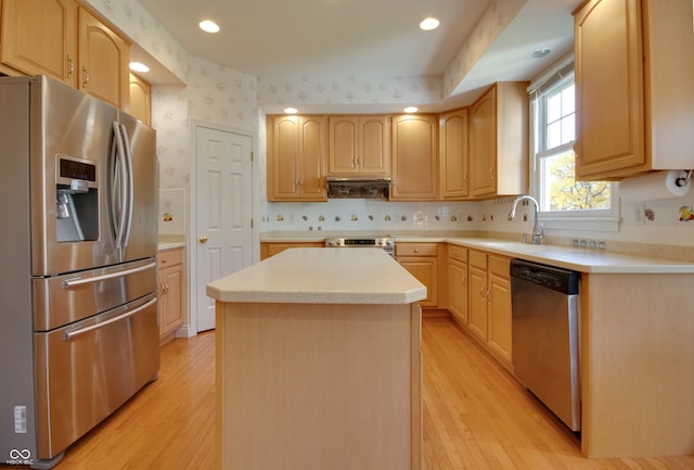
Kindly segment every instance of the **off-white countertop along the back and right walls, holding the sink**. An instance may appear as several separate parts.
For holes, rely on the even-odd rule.
[[[273,233],[262,236],[264,242],[308,242],[322,241],[329,234]],[[694,263],[639,256],[612,252],[609,250],[579,249],[560,245],[535,245],[503,239],[484,237],[457,237],[450,233],[394,234],[396,244],[403,242],[447,242],[470,249],[484,250],[504,256],[593,274],[694,274]],[[345,250],[345,249],[343,249]]]

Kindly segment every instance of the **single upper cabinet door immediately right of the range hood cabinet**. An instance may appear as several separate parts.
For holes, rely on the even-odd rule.
[[[437,198],[437,122],[429,115],[393,118],[393,191],[390,199]]]

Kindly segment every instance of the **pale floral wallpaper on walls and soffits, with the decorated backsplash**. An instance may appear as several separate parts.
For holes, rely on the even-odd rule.
[[[190,123],[200,119],[247,130],[256,136],[254,185],[259,230],[489,230],[529,231],[527,214],[505,220],[509,200],[390,203],[330,201],[268,203],[266,200],[266,126],[262,106],[282,103],[437,102],[460,82],[481,51],[503,30],[527,0],[496,0],[474,34],[439,77],[255,77],[191,56],[137,0],[87,0],[104,17],[137,41],[183,86],[153,89],[153,125],[157,129],[159,207],[169,225],[163,233],[185,224],[190,179]],[[603,240],[694,245],[694,192],[685,198],[621,204],[618,232],[592,233]],[[573,237],[575,233],[560,233]],[[579,234],[580,236],[580,234]]]

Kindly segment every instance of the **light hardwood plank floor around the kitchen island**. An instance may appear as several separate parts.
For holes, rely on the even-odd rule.
[[[425,318],[422,338],[426,470],[694,469],[694,456],[587,459],[578,437],[450,319]],[[215,469],[214,343],[207,332],[165,345],[158,380],[56,469]]]

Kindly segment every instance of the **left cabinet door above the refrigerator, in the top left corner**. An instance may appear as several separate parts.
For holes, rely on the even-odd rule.
[[[0,61],[27,75],[44,74],[73,87],[77,71],[74,0],[2,0]]]

